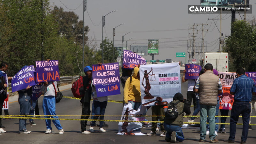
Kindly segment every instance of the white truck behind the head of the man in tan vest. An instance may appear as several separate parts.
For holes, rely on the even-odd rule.
[[[228,72],[228,53],[209,52],[204,53],[204,64],[211,63],[213,69],[220,72]]]

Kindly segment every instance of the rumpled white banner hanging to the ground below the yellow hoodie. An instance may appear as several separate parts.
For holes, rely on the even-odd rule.
[[[132,109],[132,104],[125,104],[123,107],[121,120],[128,121],[144,121],[147,112],[147,107],[143,107],[140,105],[138,110]],[[140,117],[129,117],[129,116],[140,116]],[[120,135],[145,135],[140,131],[142,128],[142,123],[140,122],[119,122],[118,123],[118,133]]]

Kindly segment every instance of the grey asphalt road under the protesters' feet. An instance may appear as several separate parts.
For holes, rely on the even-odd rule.
[[[182,83],[182,94],[186,98],[187,83]],[[73,96],[70,89],[62,91],[65,96]],[[123,93],[123,89],[121,90]],[[39,112],[43,115],[42,111],[42,99],[39,98]],[[18,100],[18,98],[17,98]],[[109,100],[123,100],[122,95],[109,96]],[[92,105],[92,102],[91,102]],[[9,113],[11,115],[19,114],[19,104],[18,102],[13,102],[9,105]],[[80,106],[79,100],[63,98],[60,103],[56,104],[56,113],[57,115],[81,115],[82,107]],[[193,111],[193,109],[191,108]],[[120,103],[108,103],[105,115],[121,115],[122,113],[122,104]],[[151,109],[148,110],[147,115],[151,115]],[[219,112],[220,115],[220,112]],[[229,113],[230,115],[230,113]],[[253,116],[255,113],[253,111]],[[70,117],[61,117],[61,118],[70,118]],[[80,117],[72,117],[80,118]],[[105,119],[111,120],[120,120],[120,117],[105,117]],[[150,117],[147,118],[151,120]],[[229,123],[229,118],[227,118],[226,123]],[[188,121],[188,118],[184,118],[184,122]],[[200,119],[195,119],[195,122],[199,122]],[[7,133],[0,133],[1,144],[28,144],[28,143],[47,143],[47,144],[70,144],[70,143],[166,143],[164,137],[160,137],[161,132],[157,132],[156,136],[125,136],[125,135],[116,135],[118,132],[118,123],[117,122],[106,122],[109,124],[106,133],[99,133],[98,127],[94,127],[95,132],[91,134],[81,134],[80,132],[80,121],[70,121],[70,120],[61,120],[60,123],[64,128],[64,134],[58,134],[58,130],[52,123],[52,134],[45,134],[46,126],[44,120],[35,120],[35,126],[28,125],[27,120],[27,129],[31,131],[30,134],[19,134],[18,132],[18,119],[3,120],[2,124],[6,127],[4,130]],[[88,122],[87,124],[89,124]],[[98,122],[97,122],[98,123]],[[242,123],[242,118],[239,119],[238,123]],[[256,118],[252,118],[252,124],[256,123]],[[255,126],[252,126],[256,130]],[[87,126],[89,129],[89,126]],[[196,144],[199,143],[199,129],[182,129],[185,140],[183,143]],[[255,143],[255,130],[249,131],[247,143]],[[142,132],[148,133],[151,131],[151,128],[143,128]],[[217,139],[220,140],[219,143],[224,143],[223,141],[228,139],[229,136],[229,125],[226,125],[226,134],[218,133]],[[237,126],[236,128],[236,139],[235,142],[241,141],[242,126]],[[206,140],[209,141],[209,137],[206,137]]]

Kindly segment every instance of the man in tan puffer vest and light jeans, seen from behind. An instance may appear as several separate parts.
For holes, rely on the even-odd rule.
[[[205,142],[206,121],[209,118],[210,142],[218,142],[215,135],[215,113],[217,105],[217,95],[222,92],[220,78],[213,73],[213,66],[207,63],[204,66],[205,73],[199,76],[196,81],[195,92],[199,93],[200,109],[200,142]],[[199,90],[200,89],[200,90]]]

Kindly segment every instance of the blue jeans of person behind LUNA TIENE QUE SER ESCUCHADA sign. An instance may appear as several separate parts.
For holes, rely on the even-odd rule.
[[[108,101],[99,102],[93,100],[92,103],[92,119],[98,119],[98,116],[93,115],[100,115],[100,120],[104,120],[105,109],[107,107]],[[96,121],[92,121],[90,126],[94,126]],[[100,128],[103,126],[103,121],[100,121]]]

